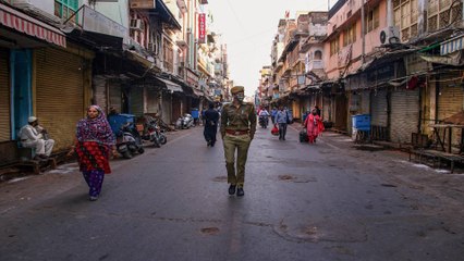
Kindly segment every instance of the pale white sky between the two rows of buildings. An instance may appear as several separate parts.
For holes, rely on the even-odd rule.
[[[335,0],[330,0],[333,5]],[[290,11],[327,11],[328,0],[208,0],[213,16],[210,30],[221,34],[228,46],[230,78],[253,96],[259,84],[259,70],[270,65],[273,37],[279,20]]]

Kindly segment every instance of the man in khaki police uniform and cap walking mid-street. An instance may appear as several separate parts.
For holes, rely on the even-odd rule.
[[[245,163],[249,144],[256,132],[256,112],[253,103],[243,102],[245,89],[235,86],[231,89],[232,103],[222,108],[221,136],[224,144],[225,169],[228,171],[229,195],[245,195]],[[236,150],[236,170],[235,170]]]

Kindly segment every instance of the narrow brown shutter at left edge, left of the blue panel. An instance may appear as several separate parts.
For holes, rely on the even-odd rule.
[[[10,140],[9,50],[0,48],[0,142]]]

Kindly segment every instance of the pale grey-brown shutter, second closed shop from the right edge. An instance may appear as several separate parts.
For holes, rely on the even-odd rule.
[[[418,132],[419,89],[395,90],[391,94],[390,140],[410,144],[411,134]]]

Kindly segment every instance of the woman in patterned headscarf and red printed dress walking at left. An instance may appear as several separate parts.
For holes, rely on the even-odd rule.
[[[77,122],[76,141],[70,154],[77,153],[80,170],[89,187],[89,200],[98,199],[105,174],[110,174],[110,152],[117,154],[114,136],[99,105],[87,109],[87,117]]]

